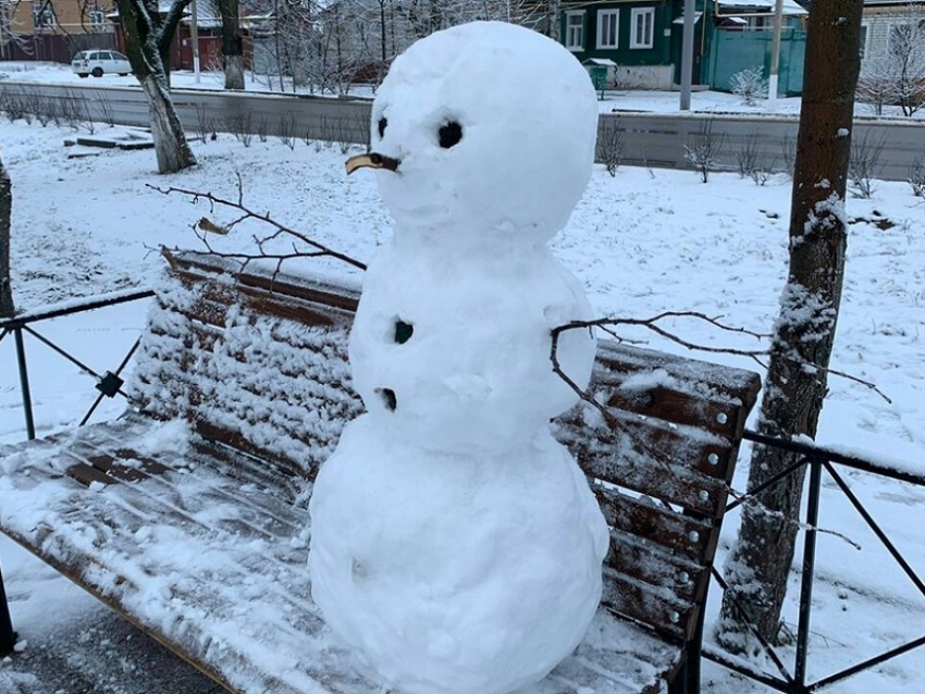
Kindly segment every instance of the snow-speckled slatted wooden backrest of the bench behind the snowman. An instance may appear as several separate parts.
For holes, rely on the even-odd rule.
[[[347,335],[358,288],[171,256],[134,379],[141,411],[313,479],[361,412]],[[756,374],[603,342],[591,391],[554,423],[612,526],[604,603],[693,635]],[[612,427],[619,422],[618,431]]]

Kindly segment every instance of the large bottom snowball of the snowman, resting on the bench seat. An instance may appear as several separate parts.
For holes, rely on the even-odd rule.
[[[310,503],[312,597],[407,694],[503,694],[580,643],[608,534],[547,430],[520,453],[423,455],[369,416],[347,426]]]

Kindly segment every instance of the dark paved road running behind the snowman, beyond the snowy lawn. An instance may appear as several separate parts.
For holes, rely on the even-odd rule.
[[[50,99],[86,97],[98,113],[108,112],[125,125],[148,124],[147,104],[138,88],[58,86],[4,83],[2,88]],[[369,101],[294,95],[174,90],[174,103],[184,126],[192,133],[212,129],[270,136],[366,144]],[[788,168],[797,141],[794,116],[702,113],[625,112],[601,116],[599,159],[606,156],[613,128],[622,136],[616,144],[622,163],[655,168],[687,168],[686,146],[703,140],[710,131],[716,165],[738,169],[738,161],[753,149],[760,165],[774,171]],[[925,122],[856,119],[854,146],[879,149],[873,177],[904,181],[910,168],[925,160]],[[613,149],[613,148],[612,148]]]

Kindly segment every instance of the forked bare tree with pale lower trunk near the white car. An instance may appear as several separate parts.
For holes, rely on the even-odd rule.
[[[132,72],[148,99],[158,171],[174,173],[194,166],[196,158],[173,108],[168,72],[171,39],[189,0],[173,0],[165,14],[161,13],[158,0],[115,2]]]

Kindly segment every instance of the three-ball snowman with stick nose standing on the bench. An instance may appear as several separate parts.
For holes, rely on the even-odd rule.
[[[373,103],[372,153],[395,219],[350,334],[367,413],[310,501],[312,597],[362,665],[407,694],[504,694],[581,641],[608,533],[550,431],[576,402],[551,330],[590,317],[552,257],[591,175],[587,73],[502,23],[457,26],[398,57]],[[584,385],[589,333],[558,360]]]

